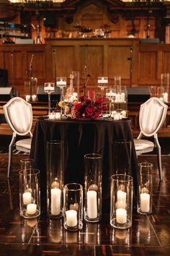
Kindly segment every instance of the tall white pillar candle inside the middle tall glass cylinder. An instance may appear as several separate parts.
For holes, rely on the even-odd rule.
[[[89,218],[97,218],[97,192],[89,190],[87,197],[87,216]]]

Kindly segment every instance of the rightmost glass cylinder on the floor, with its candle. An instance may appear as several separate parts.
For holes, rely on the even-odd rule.
[[[138,206],[140,214],[152,213],[152,163],[139,163]]]

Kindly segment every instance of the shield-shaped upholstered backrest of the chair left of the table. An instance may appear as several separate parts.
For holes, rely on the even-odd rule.
[[[12,131],[17,135],[27,135],[32,128],[32,106],[23,98],[14,97],[4,106],[4,115]]]

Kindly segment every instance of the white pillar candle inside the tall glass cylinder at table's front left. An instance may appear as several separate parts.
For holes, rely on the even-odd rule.
[[[59,215],[61,213],[61,189],[50,189],[51,193],[51,214]]]

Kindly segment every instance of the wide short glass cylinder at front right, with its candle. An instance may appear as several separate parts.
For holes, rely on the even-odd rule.
[[[110,225],[116,229],[132,226],[133,177],[125,174],[111,176]]]

